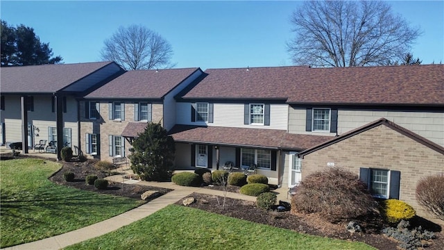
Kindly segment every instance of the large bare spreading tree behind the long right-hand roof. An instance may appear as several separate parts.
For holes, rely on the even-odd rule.
[[[307,1],[291,17],[293,63],[314,67],[384,65],[401,60],[420,35],[382,1]]]

